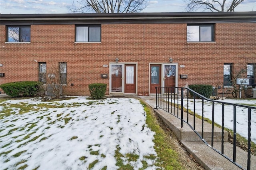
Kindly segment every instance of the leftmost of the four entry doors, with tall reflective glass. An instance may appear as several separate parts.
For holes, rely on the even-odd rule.
[[[123,65],[111,65],[111,92],[123,92]]]

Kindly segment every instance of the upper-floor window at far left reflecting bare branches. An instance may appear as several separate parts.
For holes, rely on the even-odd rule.
[[[30,26],[8,26],[7,42],[30,42]]]

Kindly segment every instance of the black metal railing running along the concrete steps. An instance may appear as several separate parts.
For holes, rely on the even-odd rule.
[[[188,99],[190,98],[190,99]],[[201,127],[200,130],[196,130],[196,100],[200,99],[202,105],[200,106],[199,110],[201,111]],[[190,101],[190,102],[189,102]],[[206,140],[204,139],[204,106],[208,105],[209,102],[212,105],[211,113],[212,113],[212,129],[211,129],[211,144],[208,144]],[[192,103],[192,104],[191,104]],[[214,148],[214,115],[216,114],[216,105],[221,105],[221,149],[218,150]],[[225,111],[224,108],[227,105],[233,106],[233,156],[226,156],[224,154],[224,119],[225,119]],[[190,107],[190,109],[189,109]],[[197,106],[198,107],[198,106]],[[247,144],[247,170],[250,170],[251,167],[251,115],[252,110],[256,111],[256,107],[247,106],[247,105],[240,105],[240,104],[234,104],[234,103],[227,103],[220,100],[212,100],[208,99],[199,93],[193,91],[192,89],[186,88],[186,87],[156,87],[156,109],[160,108],[164,111],[167,111],[171,115],[177,117],[180,119],[180,127],[183,127],[183,123],[186,123],[194,132],[202,139],[204,143],[206,143],[208,146],[210,146],[212,149],[214,149],[216,152],[227,158],[229,161],[234,163],[236,166],[238,166],[241,169],[244,169],[240,164],[236,162],[236,116],[237,112],[236,109],[238,107],[242,107],[243,109],[247,110],[248,114],[248,144]],[[197,108],[198,109],[198,108]],[[190,115],[190,116],[189,116]],[[192,115],[192,116],[191,116]],[[192,117],[192,118],[191,118]],[[189,120],[193,119],[193,120]],[[189,122],[190,121],[190,122]],[[201,131],[201,132],[198,132]]]

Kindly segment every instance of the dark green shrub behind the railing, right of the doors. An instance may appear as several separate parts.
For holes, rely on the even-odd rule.
[[[188,87],[206,98],[212,96],[212,85],[189,85]],[[190,95],[194,94],[190,92]]]

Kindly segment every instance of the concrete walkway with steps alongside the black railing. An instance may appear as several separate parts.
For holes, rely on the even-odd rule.
[[[156,108],[155,97],[140,96],[145,103],[153,109]],[[177,109],[176,109],[177,110]],[[171,115],[162,109],[154,109],[154,111],[162,118],[166,125],[176,134],[184,148],[192,154],[192,156],[202,164],[206,170],[240,170],[238,166],[230,162],[224,156],[214,151],[210,146],[207,146],[196,133],[186,124],[183,123],[183,128],[180,127],[180,119]],[[179,115],[181,115],[179,111]],[[184,113],[184,117],[186,117]],[[188,122],[193,123],[192,115],[189,115]],[[196,118],[196,131],[201,134],[202,120]],[[212,125],[204,122],[204,140],[211,144],[211,128]],[[233,158],[233,145],[227,142],[228,134],[224,133],[224,154],[229,158]],[[214,148],[221,150],[221,129],[214,127]],[[240,164],[242,168],[247,169],[247,152],[236,147],[236,163]],[[251,170],[256,170],[256,156],[251,155]]]

